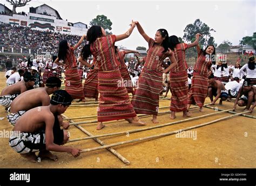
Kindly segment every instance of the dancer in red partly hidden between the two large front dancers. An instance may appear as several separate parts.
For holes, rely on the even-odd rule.
[[[117,59],[118,59],[118,61],[121,64],[119,66],[119,70],[120,70],[121,76],[122,76],[122,78],[124,80],[124,85],[125,85],[125,87],[127,89],[127,92],[128,93],[132,93],[132,95],[133,95],[132,80],[131,80],[131,77],[130,77],[129,72],[127,70],[127,66],[125,65],[125,62],[124,62],[124,56],[125,56],[125,54],[130,54],[130,53],[137,53],[137,54],[139,54],[139,53],[137,51],[119,51],[117,46],[114,46],[114,50],[116,52]]]

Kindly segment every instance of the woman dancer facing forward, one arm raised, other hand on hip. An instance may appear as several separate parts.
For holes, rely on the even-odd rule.
[[[163,87],[163,73],[167,73],[170,69],[177,65],[177,61],[173,56],[173,52],[169,47],[169,35],[165,29],[159,29],[154,39],[150,38],[143,30],[142,26],[136,22],[136,26],[143,38],[149,43],[147,58],[139,76],[138,88],[135,89],[132,97],[132,105],[136,113],[145,113],[153,115],[152,122],[157,121],[159,109],[159,94]],[[169,56],[171,65],[163,70],[161,66],[164,59]]]

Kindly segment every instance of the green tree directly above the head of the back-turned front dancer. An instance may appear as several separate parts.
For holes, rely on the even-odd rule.
[[[107,19],[107,17],[104,15],[98,15],[96,18],[92,19],[92,21],[90,22],[90,25],[101,26],[106,31],[106,34],[112,34],[112,32],[110,32],[110,30],[112,30],[111,28],[112,22],[110,19]]]

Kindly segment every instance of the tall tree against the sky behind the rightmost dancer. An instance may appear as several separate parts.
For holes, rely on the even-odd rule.
[[[185,42],[193,42],[195,40],[196,34],[200,33],[203,37],[199,39],[199,45],[201,47],[206,47],[207,45],[214,45],[214,38],[211,36],[211,32],[216,32],[213,28],[210,28],[207,24],[196,19],[193,24],[188,24],[185,27],[183,39]],[[197,50],[195,47],[187,49],[186,58],[197,58]]]

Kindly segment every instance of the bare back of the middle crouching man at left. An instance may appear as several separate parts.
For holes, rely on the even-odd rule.
[[[28,111],[37,106],[47,106],[49,104],[50,96],[46,92],[46,87],[32,89],[23,92],[12,101],[10,112],[16,113],[21,110]]]

